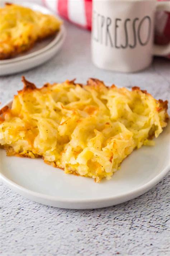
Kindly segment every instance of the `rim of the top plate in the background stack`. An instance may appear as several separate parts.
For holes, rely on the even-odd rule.
[[[19,4],[18,1],[13,1],[13,3],[14,4]],[[39,4],[36,4],[36,3],[32,3],[32,2],[27,2],[27,1],[24,2],[24,3],[21,3],[20,5],[25,6],[25,7],[29,7],[29,8],[32,8],[32,9],[34,7],[36,7],[37,10],[38,10],[38,8],[40,8],[40,12],[42,12],[41,10],[44,10],[44,12],[47,12],[48,14],[51,14],[51,15],[55,16],[56,18],[58,18],[60,21],[63,21],[60,17],[58,17],[55,13],[53,13],[51,10],[49,10],[45,6],[42,6],[42,5],[39,5]],[[58,31],[58,33],[56,32],[56,35],[55,35],[54,39],[51,42],[49,42],[49,44],[47,44],[46,46],[44,46],[43,48],[41,48],[37,51],[34,51],[33,53],[29,53],[29,50],[28,50],[28,51],[25,52],[26,54],[24,56],[19,56],[19,57],[16,57],[16,58],[0,60],[0,65],[14,63],[14,62],[17,62],[17,61],[22,61],[22,60],[25,60],[27,58],[32,58],[32,57],[34,57],[38,54],[42,54],[44,51],[46,51],[49,48],[52,48],[53,46],[55,46],[64,34],[66,35],[66,29],[65,29],[64,24],[61,24],[60,30]]]

